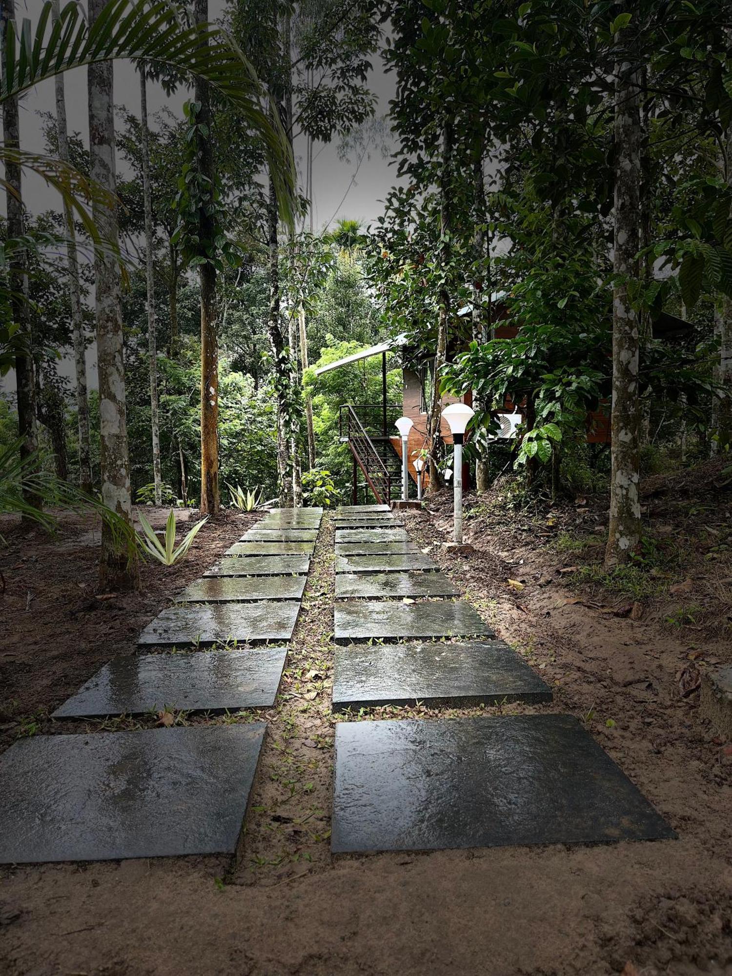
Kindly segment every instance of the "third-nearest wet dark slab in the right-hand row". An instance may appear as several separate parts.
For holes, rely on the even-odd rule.
[[[259,605],[259,604],[256,604]],[[465,600],[430,603],[395,603],[363,600],[340,603],[335,609],[335,640],[392,639],[395,637],[495,637]]]

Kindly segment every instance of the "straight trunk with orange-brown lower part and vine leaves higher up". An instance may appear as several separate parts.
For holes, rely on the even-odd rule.
[[[208,21],[208,0],[196,0],[196,20]],[[207,42],[208,44],[208,42]],[[196,131],[198,165],[211,187],[215,183],[211,142],[212,118],[208,83],[196,78],[195,100],[200,104]],[[202,136],[200,129],[208,130]],[[214,219],[201,209],[198,236],[212,241]],[[199,266],[201,285],[201,514],[219,514],[219,343],[217,336],[216,267],[207,261]]]

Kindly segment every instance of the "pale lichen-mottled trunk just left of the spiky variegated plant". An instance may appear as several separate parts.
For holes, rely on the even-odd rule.
[[[89,21],[102,13],[105,0],[89,0]],[[90,64],[89,142],[92,179],[116,193],[114,155],[114,100],[111,61]],[[111,244],[119,242],[116,207],[107,208],[95,201],[93,216],[100,234]],[[95,251],[97,359],[100,385],[100,441],[102,501],[128,522],[132,522],[130,456],[125,416],[125,364],[120,304],[120,270],[113,254]],[[140,583],[137,554],[119,551],[111,531],[102,526],[100,584],[102,590],[132,590]]]

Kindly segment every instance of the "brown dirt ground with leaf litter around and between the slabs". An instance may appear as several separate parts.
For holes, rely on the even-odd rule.
[[[665,562],[660,543],[646,573],[653,585],[630,577],[621,591],[594,568],[606,515],[591,500],[513,513],[499,496],[468,499],[475,550],[460,555],[439,545],[450,532],[447,499],[407,514],[413,536],[553,686],[550,706],[483,711],[578,715],[677,840],[332,859],[326,519],[280,695],[258,714],[268,732],[235,862],[0,869],[0,973],[730,976],[732,755],[700,716],[697,690],[701,670],[732,660],[729,494],[720,489],[690,521],[697,487],[648,495],[649,521],[675,525],[674,545],[683,536],[685,554]],[[84,520],[64,522],[56,541],[5,532],[0,749],[19,735],[154,723],[54,723],[47,715],[110,657],[134,653],[170,595],[257,517],[229,513],[207,525],[180,567],[148,565],[140,593],[108,600],[95,596],[97,538]],[[671,592],[678,586],[685,589]],[[174,717],[248,721],[253,713]]]

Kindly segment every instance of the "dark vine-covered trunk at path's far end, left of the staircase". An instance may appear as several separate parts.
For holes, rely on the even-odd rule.
[[[267,207],[267,236],[269,246],[269,311],[267,314],[267,334],[272,347],[274,367],[274,391],[277,398],[277,477],[279,481],[280,506],[292,505],[292,479],[288,477],[288,430],[286,415],[289,411],[288,387],[290,385],[290,364],[285,352],[280,321],[279,284],[279,241],[277,226],[279,211],[274,181],[269,178],[269,204]]]

